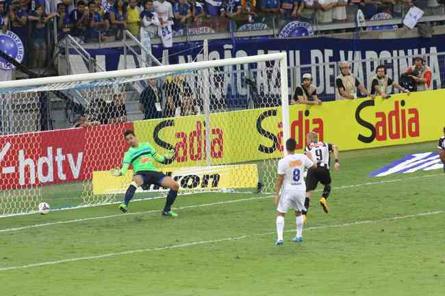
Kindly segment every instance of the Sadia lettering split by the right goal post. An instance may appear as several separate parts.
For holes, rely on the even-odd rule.
[[[303,116],[304,113],[304,116]],[[290,137],[295,139],[296,141],[296,149],[302,149],[306,144],[306,135],[309,131],[314,131],[318,133],[318,137],[320,141],[323,141],[324,137],[324,129],[323,129],[323,120],[321,118],[309,118],[310,112],[309,110],[299,110],[297,113],[296,120],[290,122]],[[268,111],[264,111],[257,118],[257,131],[263,137],[270,139],[271,145],[264,146],[263,144],[259,144],[258,150],[263,153],[273,153],[275,150],[283,151],[283,123],[278,122],[277,128],[279,129],[277,134],[274,134],[271,131],[268,131],[263,126],[263,121],[270,117],[277,116],[277,109],[271,109]]]

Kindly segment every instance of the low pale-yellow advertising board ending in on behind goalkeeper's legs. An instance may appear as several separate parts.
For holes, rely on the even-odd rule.
[[[216,165],[210,167],[169,168],[165,174],[178,181],[183,190],[236,189],[257,187],[257,165]],[[125,176],[110,176],[108,171],[93,172],[94,195],[125,193],[131,183],[133,171]],[[151,191],[160,191],[152,186]]]

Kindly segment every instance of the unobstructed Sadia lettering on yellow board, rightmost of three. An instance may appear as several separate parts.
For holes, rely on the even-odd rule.
[[[374,100],[365,100],[355,110],[355,120],[358,124],[369,129],[370,136],[359,134],[357,139],[364,143],[375,140],[386,141],[387,139],[404,139],[406,137],[418,137],[420,135],[419,111],[416,108],[404,109],[405,100],[394,101],[394,109],[385,113],[377,111],[374,113],[375,123],[368,122],[361,117],[361,111],[367,107],[374,107]]]

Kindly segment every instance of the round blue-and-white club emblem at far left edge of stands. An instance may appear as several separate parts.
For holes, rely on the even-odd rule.
[[[25,49],[23,48],[22,40],[12,31],[7,31],[4,34],[0,33],[0,50],[15,59],[18,63],[23,61]],[[10,70],[16,67],[3,59],[3,57],[0,57],[0,68],[3,70]]]

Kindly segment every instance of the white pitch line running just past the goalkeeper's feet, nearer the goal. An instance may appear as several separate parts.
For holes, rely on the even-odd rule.
[[[361,183],[361,184],[355,184],[355,185],[346,185],[342,187],[333,187],[333,190],[342,190],[342,189],[348,189],[348,188],[354,188],[354,187],[361,187],[361,186],[372,186],[372,185],[381,185],[385,183],[395,183],[400,182],[403,180],[413,180],[418,178],[429,178],[434,176],[444,176],[444,174],[432,174],[432,175],[426,175],[426,176],[416,176],[416,177],[409,177],[409,178],[398,178],[393,180],[381,180],[376,182],[368,182],[368,183]],[[321,189],[316,191],[322,191]],[[209,204],[193,204],[190,206],[181,206],[179,208],[175,208],[175,210],[183,210],[186,208],[201,208],[201,207],[207,207],[207,206],[217,206],[220,204],[231,204],[234,202],[246,202],[250,200],[264,200],[266,198],[271,198],[272,196],[259,196],[259,197],[253,197],[253,198],[241,198],[238,200],[225,200],[223,202],[212,202]],[[18,231],[18,230],[26,230],[30,228],[40,228],[45,226],[53,226],[53,225],[59,225],[59,224],[71,224],[71,223],[77,223],[77,222],[84,222],[84,221],[91,221],[91,220],[98,220],[98,219],[109,219],[109,218],[116,218],[116,217],[128,217],[131,215],[144,215],[144,214],[151,214],[151,213],[160,213],[160,210],[151,210],[151,211],[142,211],[142,212],[135,212],[135,213],[119,213],[114,215],[107,215],[107,216],[99,216],[99,217],[90,217],[90,218],[81,218],[81,219],[73,219],[73,220],[66,220],[66,221],[56,221],[56,222],[49,222],[49,223],[43,223],[43,224],[34,224],[34,225],[28,225],[28,226],[21,226],[21,227],[14,227],[14,228],[5,228],[0,229],[0,234],[4,232],[12,232],[12,231]]]

